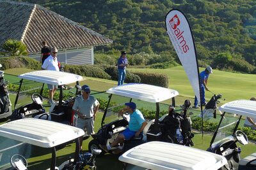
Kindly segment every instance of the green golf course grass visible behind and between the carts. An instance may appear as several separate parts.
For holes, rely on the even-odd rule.
[[[177,105],[184,103],[185,99],[188,99],[189,97],[193,97],[193,91],[191,89],[191,85],[189,84],[188,78],[186,78],[186,74],[184,73],[184,70],[182,67],[173,67],[170,69],[131,69],[132,71],[152,71],[154,73],[164,73],[168,74],[170,76],[170,88],[178,90],[180,93],[180,96],[177,97]],[[10,81],[10,83],[19,83],[19,78],[17,75],[20,73],[26,73],[27,71],[31,71],[28,69],[10,69],[6,70],[5,73],[5,79]],[[11,75],[12,74],[12,75]],[[216,93],[223,94],[223,97],[227,99],[227,101],[232,101],[234,99],[248,99],[250,96],[253,96],[255,92],[250,92],[253,87],[255,87],[256,82],[255,80],[256,76],[252,74],[236,74],[236,73],[227,73],[223,71],[214,71],[214,74],[211,75],[211,78],[209,80],[209,87],[212,91]],[[243,80],[243,83],[240,81]],[[33,83],[32,81],[25,81],[26,85],[36,87],[38,84]],[[108,94],[104,93],[107,89],[110,87],[113,87],[116,85],[116,81],[112,80],[102,80],[99,78],[88,78],[86,77],[85,80],[81,82],[81,85],[87,84],[92,89],[92,95],[96,97],[100,97],[102,99],[108,99]],[[14,103],[15,95],[10,95],[12,103]],[[31,98],[29,96],[23,96],[24,98],[22,101],[24,103],[28,103],[31,101]],[[211,94],[207,93],[207,97],[210,98]],[[190,98],[193,100],[192,98]],[[116,101],[120,101],[121,98],[117,97]],[[143,108],[152,108],[155,109],[155,105],[151,104],[148,105],[148,103],[144,103],[142,101],[136,101],[138,103],[139,107]],[[170,101],[164,101],[165,104],[169,104]],[[167,110],[166,106],[164,104],[161,105],[161,107],[164,107],[162,109]],[[193,110],[195,112],[195,116],[198,114],[198,110]],[[97,114],[97,119],[95,121],[95,132],[97,132],[97,129],[100,127],[102,112],[99,112]],[[195,148],[200,148],[202,150],[206,150],[209,147],[209,143],[211,141],[212,135],[211,134],[205,134],[204,138],[202,138],[202,134],[196,134],[195,138],[193,138],[193,141],[195,143]],[[91,140],[91,138],[87,139],[83,142],[83,150],[88,149],[88,142]],[[239,145],[239,144],[238,144]],[[241,146],[242,148],[242,157],[245,157],[246,155],[255,152],[255,144],[250,143],[246,146]],[[26,152],[29,152],[31,155],[29,160],[29,169],[45,169],[49,166],[49,162],[51,162],[51,151],[49,150],[42,150],[42,148],[32,147],[31,150],[26,150]],[[72,155],[74,152],[74,144],[68,145],[63,150],[59,150],[57,152],[57,162],[60,164],[64,160],[68,159],[68,156]],[[109,165],[106,167],[106,165]],[[118,161],[117,155],[105,155],[104,157],[97,159],[97,167],[98,169],[122,169],[122,163]]]

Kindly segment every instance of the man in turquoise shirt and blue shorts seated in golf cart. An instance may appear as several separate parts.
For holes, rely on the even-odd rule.
[[[118,146],[119,149],[122,150],[122,146],[124,144],[124,139],[131,139],[133,136],[140,136],[141,132],[143,132],[144,127],[147,125],[147,122],[145,121],[142,113],[140,110],[136,109],[136,104],[133,102],[125,103],[125,108],[119,112],[119,115],[122,115],[126,111],[130,114],[130,121],[127,129],[125,129],[124,132],[118,134],[118,137],[111,143],[111,145],[108,145],[108,150],[113,150],[114,146]]]

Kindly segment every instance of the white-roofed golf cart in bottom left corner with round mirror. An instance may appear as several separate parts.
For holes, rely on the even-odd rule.
[[[27,143],[29,145],[38,146],[41,147],[42,150],[50,148],[52,152],[51,165],[49,165],[50,170],[83,169],[83,167],[88,164],[92,165],[92,168],[95,168],[95,155],[99,154],[101,151],[93,150],[93,154],[80,154],[80,144],[78,138],[83,135],[84,131],[77,127],[36,118],[24,118],[0,125],[1,138],[6,138],[10,141],[19,141],[23,144]],[[67,143],[68,141],[76,141],[76,152],[74,153],[74,159],[70,158],[69,160],[63,162],[59,167],[56,167],[56,147],[62,145],[63,143]],[[9,159],[11,166],[15,169],[27,169],[28,162],[22,155],[19,155],[19,153],[10,155],[10,152],[7,152],[13,148],[15,148],[15,146],[4,148],[4,150],[0,151],[0,162],[3,162],[3,159]],[[10,163],[1,165],[0,169],[10,168]]]

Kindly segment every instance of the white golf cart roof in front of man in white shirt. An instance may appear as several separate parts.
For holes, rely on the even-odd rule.
[[[20,74],[19,78],[38,81],[40,83],[47,83],[51,85],[67,85],[76,81],[83,80],[83,77],[77,74],[51,70],[32,71],[29,73]]]

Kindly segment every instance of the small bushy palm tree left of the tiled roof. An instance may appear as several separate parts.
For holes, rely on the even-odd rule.
[[[2,45],[4,50],[3,55],[7,56],[19,56],[19,55],[28,55],[27,47],[22,41],[16,39],[8,39]]]

